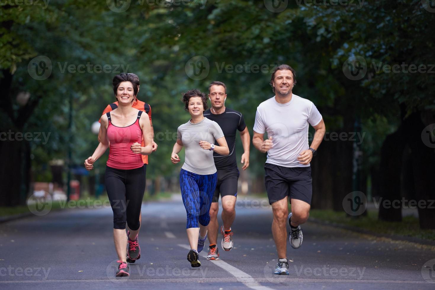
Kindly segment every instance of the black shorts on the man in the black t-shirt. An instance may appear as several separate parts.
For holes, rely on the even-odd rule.
[[[221,197],[226,195],[237,197],[239,175],[240,173],[237,167],[218,169],[218,183],[214,190],[212,202],[217,203],[219,201],[219,194],[221,194]]]

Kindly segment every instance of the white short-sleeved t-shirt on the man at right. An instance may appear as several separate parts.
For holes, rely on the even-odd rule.
[[[308,123],[316,126],[322,116],[310,100],[292,95],[290,102],[281,104],[275,96],[257,108],[254,131],[268,133],[273,147],[268,151],[266,163],[284,167],[309,167],[298,160],[299,153],[307,150]]]

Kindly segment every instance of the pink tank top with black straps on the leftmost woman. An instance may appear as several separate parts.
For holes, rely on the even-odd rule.
[[[130,146],[142,142],[142,130],[139,125],[139,118],[142,111],[137,113],[136,121],[127,127],[117,127],[112,124],[110,112],[106,113],[109,119],[107,126],[107,138],[110,142],[109,159],[107,166],[116,169],[135,169],[144,166],[142,155],[131,151]]]

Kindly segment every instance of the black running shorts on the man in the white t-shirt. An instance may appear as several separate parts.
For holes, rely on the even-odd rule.
[[[266,163],[264,171],[270,204],[287,196],[311,204],[311,167],[284,167]]]

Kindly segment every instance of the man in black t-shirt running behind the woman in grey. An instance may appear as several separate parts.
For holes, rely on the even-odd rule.
[[[224,83],[214,81],[208,87],[208,97],[211,101],[211,108],[204,111],[204,117],[215,121],[224,132],[225,139],[228,143],[230,154],[228,156],[213,153],[214,165],[218,170],[218,183],[214,191],[213,201],[210,207],[210,223],[208,225],[208,240],[210,242],[210,250],[207,255],[207,260],[217,260],[219,257],[218,247],[218,211],[219,211],[219,194],[222,197],[222,220],[224,224],[221,227],[222,233],[222,249],[229,251],[233,248],[233,239],[231,225],[236,216],[235,204],[237,197],[237,182],[239,170],[236,161],[236,132],[240,131],[240,137],[244,149],[241,163],[242,169],[245,170],[249,166],[249,146],[250,136],[248,127],[244,123],[243,116],[236,110],[231,110],[225,107],[227,99],[227,87]]]

